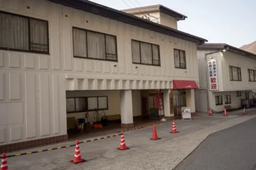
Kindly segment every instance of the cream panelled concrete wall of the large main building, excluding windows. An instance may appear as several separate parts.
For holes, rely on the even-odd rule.
[[[2,0],[0,10],[47,20],[50,53],[0,50],[0,145],[67,134],[66,90],[170,89],[173,79],[198,81],[195,43],[45,0]],[[73,26],[115,35],[118,62],[74,58]],[[132,64],[131,39],[160,45],[161,67]],[[175,69],[173,48],[186,50],[186,70]]]

